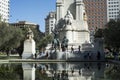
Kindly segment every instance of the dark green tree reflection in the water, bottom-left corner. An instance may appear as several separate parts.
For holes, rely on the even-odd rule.
[[[0,65],[0,80],[20,80],[22,67],[19,65],[1,64]],[[14,76],[14,77],[13,77]]]

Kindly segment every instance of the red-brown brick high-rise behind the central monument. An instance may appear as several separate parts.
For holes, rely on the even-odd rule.
[[[83,0],[89,29],[103,28],[107,23],[107,0]]]

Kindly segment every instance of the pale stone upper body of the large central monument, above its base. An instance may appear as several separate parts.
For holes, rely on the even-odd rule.
[[[68,48],[72,45],[78,48],[83,43],[90,42],[85,5],[82,0],[57,0],[57,21],[55,29],[59,31],[59,39],[64,36],[69,40]]]

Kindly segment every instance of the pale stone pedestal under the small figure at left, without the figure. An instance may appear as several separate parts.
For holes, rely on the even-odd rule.
[[[31,59],[35,51],[35,41],[33,39],[27,39],[24,41],[24,50],[22,54],[22,59]]]

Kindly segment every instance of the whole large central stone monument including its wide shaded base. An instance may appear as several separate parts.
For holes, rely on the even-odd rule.
[[[57,30],[57,32],[54,33],[52,45],[56,45],[55,42],[59,41],[59,48],[62,50],[57,47],[49,50],[52,59],[101,60],[104,56],[103,43],[99,39],[94,43],[90,42],[83,0],[57,0],[56,7],[54,31]],[[46,50],[48,49],[51,48],[47,46]]]

